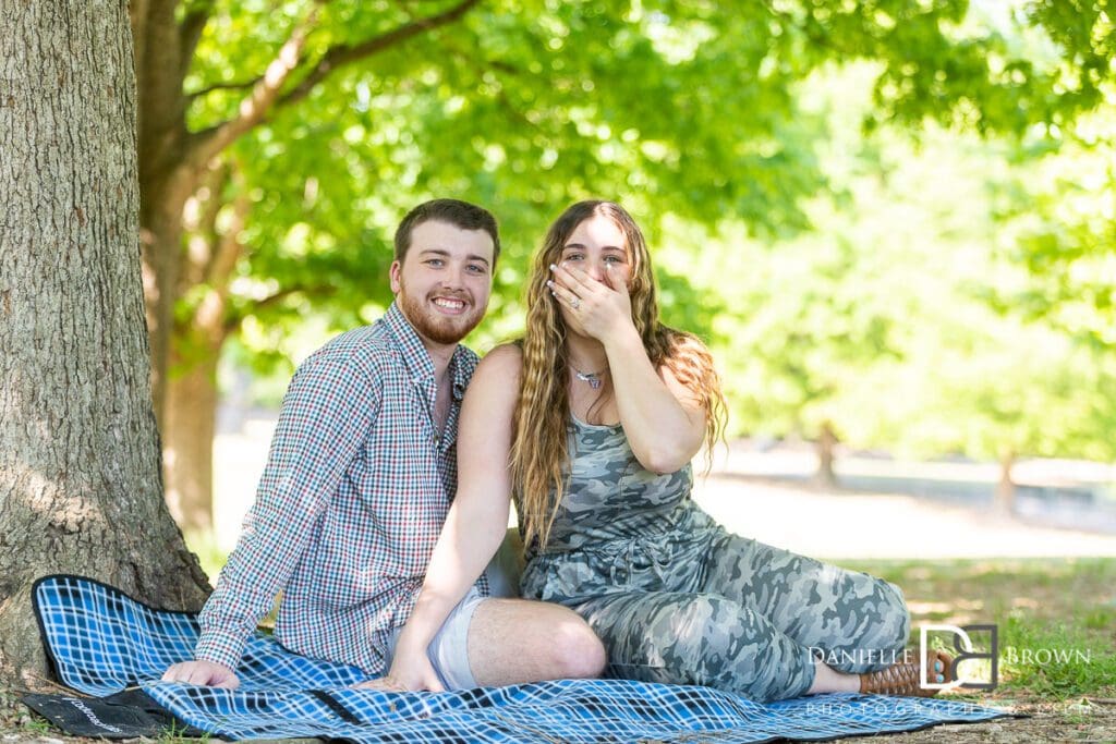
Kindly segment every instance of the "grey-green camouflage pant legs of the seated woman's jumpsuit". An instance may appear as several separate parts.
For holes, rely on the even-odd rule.
[[[532,563],[525,580],[533,574],[542,589],[532,593],[581,615],[620,678],[767,703],[805,694],[815,658],[839,671],[885,668],[910,631],[894,584],[720,526],[539,554]]]

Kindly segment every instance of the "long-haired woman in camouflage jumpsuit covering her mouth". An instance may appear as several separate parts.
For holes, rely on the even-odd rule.
[[[497,550],[516,499],[526,598],[584,617],[624,678],[769,702],[921,694],[899,590],[727,532],[690,497],[723,400],[695,337],[658,322],[647,248],[610,202],[551,225],[527,331],[465,396],[460,486],[389,678],[422,686],[429,638]],[[561,494],[556,497],[555,494]],[[949,657],[930,659],[942,682]]]

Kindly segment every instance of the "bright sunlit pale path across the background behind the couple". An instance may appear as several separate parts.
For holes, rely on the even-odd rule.
[[[273,428],[272,414],[246,418],[218,434],[214,512],[218,542],[225,550],[235,544],[254,497]],[[733,443],[729,456],[714,462],[713,473],[698,479],[695,499],[739,534],[817,558],[1116,555],[1116,534],[1006,519],[980,502],[826,491],[804,477],[787,477],[808,473],[809,457],[801,448],[757,452]],[[929,477],[927,465],[899,467]],[[994,466],[990,473],[994,475]],[[978,472],[971,480],[988,475]]]

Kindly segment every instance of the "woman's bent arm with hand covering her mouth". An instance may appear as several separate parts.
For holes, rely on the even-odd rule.
[[[665,367],[656,370],[632,321],[624,281],[605,282],[568,263],[555,268],[555,281],[578,298],[575,312],[585,332],[605,347],[620,424],[639,463],[655,473],[673,473],[701,450],[705,410],[693,390]]]

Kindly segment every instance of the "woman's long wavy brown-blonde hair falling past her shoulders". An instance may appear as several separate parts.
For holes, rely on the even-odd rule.
[[[559,263],[570,234],[594,216],[612,220],[624,233],[631,279],[632,319],[656,369],[666,367],[694,392],[705,409],[705,448],[709,455],[725,423],[724,396],[713,358],[692,334],[658,322],[658,300],[647,244],[638,225],[620,205],[605,201],[574,204],[550,225],[535,257],[527,284],[527,330],[522,339],[523,366],[513,417],[511,446],[512,487],[523,544],[547,544],[562,493],[562,468],[569,421],[569,351],[566,323],[558,301],[547,288],[550,264]],[[709,463],[706,462],[706,470]]]

